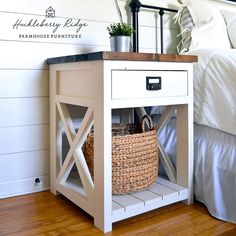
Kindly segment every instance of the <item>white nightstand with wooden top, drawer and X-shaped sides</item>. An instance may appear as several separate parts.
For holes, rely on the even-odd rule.
[[[48,59],[50,64],[50,182],[94,217],[104,232],[112,223],[174,202],[193,201],[193,81],[195,56],[95,52]],[[161,143],[159,159],[168,178],[157,178],[150,188],[112,195],[111,126],[116,111],[121,122],[132,121],[133,109],[165,106],[158,132],[176,115],[176,166]],[[74,112],[83,114],[78,119]],[[81,111],[80,111],[81,110]],[[72,114],[73,113],[73,114]],[[116,119],[116,117],[115,117]],[[83,154],[83,144],[94,130],[94,178]],[[63,151],[62,136],[68,141]]]

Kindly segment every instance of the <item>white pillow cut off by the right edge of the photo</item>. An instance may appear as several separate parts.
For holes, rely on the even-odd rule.
[[[236,12],[226,10],[222,10],[221,12],[225,18],[227,31],[232,47],[236,48]]]

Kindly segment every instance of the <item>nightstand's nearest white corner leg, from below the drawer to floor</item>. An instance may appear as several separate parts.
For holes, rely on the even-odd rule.
[[[96,106],[94,115],[94,224],[112,230],[111,109]]]

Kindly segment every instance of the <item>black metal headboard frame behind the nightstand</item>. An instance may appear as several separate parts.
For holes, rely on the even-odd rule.
[[[150,5],[144,5],[139,0],[131,0],[129,7],[132,12],[132,23],[133,23],[133,28],[135,30],[135,32],[133,34],[133,52],[139,51],[138,13],[140,11],[140,8],[147,8],[147,9],[159,10],[161,53],[163,53],[163,48],[164,48],[164,45],[163,45],[163,15],[165,12],[177,12],[177,10],[163,8],[163,7],[150,6]]]

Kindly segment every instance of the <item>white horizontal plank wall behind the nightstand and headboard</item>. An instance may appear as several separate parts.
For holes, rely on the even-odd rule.
[[[175,0],[142,0],[143,4],[176,7]],[[124,21],[131,21],[127,0],[119,0]],[[46,29],[13,29],[17,19],[45,19],[55,9],[57,20],[81,19],[88,24],[79,39],[19,38],[19,33]],[[175,52],[178,28],[165,18],[165,51]],[[113,0],[8,0],[0,8],[0,198],[49,187],[49,66],[48,57],[110,50],[106,27],[118,22]],[[140,51],[157,52],[159,19],[140,12]],[[44,31],[45,30],[45,31]],[[50,31],[51,29],[47,29]],[[62,33],[62,31],[60,32]],[[63,32],[65,33],[65,32]],[[174,42],[174,43],[173,43]],[[158,48],[158,49],[157,49]],[[40,178],[39,184],[35,178]]]

